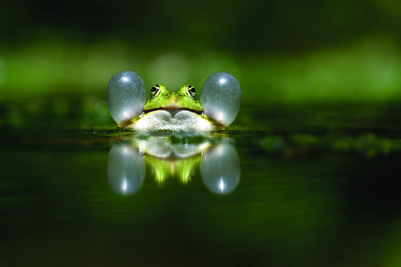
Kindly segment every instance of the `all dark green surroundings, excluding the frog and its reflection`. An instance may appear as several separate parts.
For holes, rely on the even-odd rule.
[[[233,73],[241,180],[110,188],[117,71]],[[399,266],[397,0],[0,4],[0,265]]]

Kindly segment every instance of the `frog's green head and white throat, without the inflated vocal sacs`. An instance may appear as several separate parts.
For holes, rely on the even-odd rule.
[[[143,112],[120,125],[132,131],[218,131],[227,128],[203,113],[192,85],[182,85],[176,92],[160,83],[150,89],[150,99]]]

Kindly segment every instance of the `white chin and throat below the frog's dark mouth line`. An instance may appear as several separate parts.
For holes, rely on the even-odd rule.
[[[133,119],[128,129],[135,131],[216,131],[222,129],[202,114],[186,109],[158,109]]]

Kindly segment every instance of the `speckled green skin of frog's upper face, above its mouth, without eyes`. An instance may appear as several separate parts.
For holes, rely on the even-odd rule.
[[[188,89],[192,88],[192,86],[183,85],[175,93],[171,92],[166,85],[158,84],[155,86],[160,87],[160,92],[146,102],[145,113],[158,109],[184,109],[199,114],[202,113],[201,103],[190,97],[190,92],[188,92]]]

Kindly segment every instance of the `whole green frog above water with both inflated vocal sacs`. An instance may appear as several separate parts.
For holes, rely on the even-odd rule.
[[[128,131],[211,132],[227,129],[238,114],[241,85],[231,73],[219,71],[207,78],[200,101],[186,84],[170,91],[159,83],[150,88],[134,71],[119,71],[107,85],[107,106],[117,126]]]

